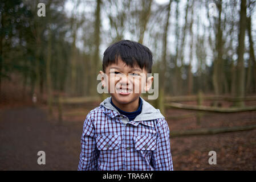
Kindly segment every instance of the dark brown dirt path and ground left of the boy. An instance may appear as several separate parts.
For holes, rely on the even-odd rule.
[[[59,126],[36,107],[0,112],[0,170],[77,170],[83,122]],[[38,151],[46,164],[37,163]]]

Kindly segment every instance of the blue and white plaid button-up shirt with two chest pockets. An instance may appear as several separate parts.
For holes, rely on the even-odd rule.
[[[84,121],[78,170],[173,170],[165,118],[128,122],[118,111],[96,107]]]

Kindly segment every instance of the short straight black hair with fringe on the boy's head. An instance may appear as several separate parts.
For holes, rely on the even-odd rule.
[[[152,52],[138,42],[121,40],[109,46],[103,56],[103,72],[109,64],[117,63],[119,58],[130,67],[137,64],[141,69],[145,68],[147,73],[152,71]]]

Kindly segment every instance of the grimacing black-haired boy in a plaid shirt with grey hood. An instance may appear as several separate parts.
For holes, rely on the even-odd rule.
[[[121,40],[105,50],[101,83],[111,97],[84,121],[78,170],[173,170],[168,124],[140,97],[151,88],[151,68],[152,53],[140,43]]]

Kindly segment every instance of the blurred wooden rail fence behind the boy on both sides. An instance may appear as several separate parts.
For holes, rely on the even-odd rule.
[[[200,100],[225,100],[225,101],[235,101],[235,98],[227,97],[227,96],[203,96]],[[256,100],[256,97],[246,97],[240,98],[244,101]],[[246,106],[246,107],[210,107],[210,106],[202,106],[202,105],[187,105],[176,103],[177,101],[195,101],[198,100],[198,96],[178,96],[178,97],[167,97],[165,107],[166,109],[182,109],[182,110],[193,110],[198,113],[238,113],[245,111],[256,111],[256,106]],[[58,105],[59,111],[59,121],[62,122],[63,117],[63,105],[68,104],[83,104],[86,102],[99,101],[100,97],[72,97],[72,98],[61,98],[58,97],[55,100],[55,103]],[[171,102],[170,102],[171,101]],[[176,102],[174,102],[176,101]],[[201,101],[198,104],[201,104]],[[200,114],[197,113],[197,117],[200,118]],[[76,114],[82,114],[76,112]],[[83,113],[84,114],[84,113]],[[189,114],[189,116],[192,116]],[[184,116],[185,117],[185,116]],[[186,116],[188,117],[188,116]],[[186,137],[193,135],[212,135],[219,133],[227,133],[234,131],[246,131],[256,129],[256,125],[250,126],[235,126],[235,127],[222,127],[215,129],[194,129],[194,130],[185,130],[185,131],[172,131],[171,137]]]

